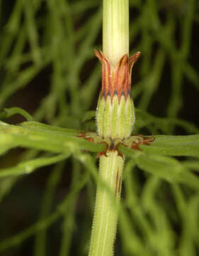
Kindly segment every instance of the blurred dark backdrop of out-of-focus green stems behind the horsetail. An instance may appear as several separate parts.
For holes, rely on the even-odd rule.
[[[101,87],[101,66],[93,54],[94,48],[102,48],[101,4],[98,0],[0,1],[1,110],[21,107],[39,122],[96,129],[93,119],[82,119],[86,111],[96,109]],[[183,135],[198,131],[198,31],[198,1],[130,0],[130,53],[142,53],[132,75],[132,97],[138,109],[135,133]],[[164,117],[161,124],[147,113]],[[10,124],[24,121],[20,115],[4,120]],[[14,166],[38,154],[43,153],[12,149],[1,156],[0,167]],[[1,178],[0,240],[52,213],[82,171],[80,162],[69,159],[22,178]],[[133,176],[139,184],[139,198],[141,191],[147,189],[148,177],[139,170]],[[47,233],[40,231],[2,255],[86,255],[95,189],[90,179],[86,188],[70,199],[66,215],[57,218]],[[193,195],[188,188],[182,189],[186,199]],[[178,248],[183,233],[175,196],[166,182],[161,183],[161,191],[158,202],[169,211],[172,235],[175,233],[175,239],[171,235],[172,246]],[[142,240],[139,221],[132,217],[137,238]],[[44,240],[45,249],[45,243],[40,245]],[[125,250],[121,240],[119,233],[115,255],[135,255]],[[146,241],[143,245],[149,246]],[[189,255],[198,255],[198,246],[195,242]],[[169,255],[151,249],[153,255]],[[175,250],[174,255],[188,256],[186,250]]]

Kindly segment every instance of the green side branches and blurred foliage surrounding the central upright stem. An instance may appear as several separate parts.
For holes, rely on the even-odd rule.
[[[87,255],[95,196],[93,180],[98,181],[96,153],[106,147],[77,136],[89,128],[96,129],[92,109],[97,102],[101,70],[98,64],[93,65],[93,48],[101,48],[100,5],[101,1],[91,0],[17,0],[4,13],[8,6],[1,1],[2,206],[29,174],[53,166],[48,168],[50,176],[43,188],[38,220],[27,228],[23,226],[20,232],[8,233],[7,238],[2,228],[0,252],[33,237],[35,255],[51,255],[47,234],[52,224],[62,219],[57,255]],[[153,133],[155,141],[140,146],[142,151],[122,145],[118,148],[126,156],[119,223],[122,255],[195,256],[199,251],[199,129],[191,119],[181,119],[181,112],[192,106],[185,105],[183,90],[193,87],[195,94],[199,90],[199,74],[189,58],[193,28],[196,26],[197,31],[199,24],[198,3],[152,0],[141,4],[130,0],[130,6],[130,50],[142,52],[137,73],[133,72],[133,80],[138,81],[132,85],[137,107],[133,133]],[[180,31],[179,46],[176,31]],[[169,85],[164,83],[164,72]],[[32,90],[39,87],[38,83],[40,90],[46,90],[39,98],[40,90],[38,95]],[[162,84],[166,100],[161,94]],[[25,90],[28,96],[24,96]],[[162,102],[156,100],[157,94]],[[25,97],[33,102],[32,108]],[[159,110],[154,112],[160,117],[149,113],[154,109]],[[26,121],[22,122],[19,115]],[[16,157],[13,149],[18,147],[25,151]],[[57,203],[56,191],[67,166],[72,180],[64,199]],[[81,212],[78,198],[85,205],[81,221],[77,218]],[[0,213],[6,212],[0,209]],[[0,221],[3,226],[4,219]],[[74,246],[77,243],[78,248]],[[14,250],[8,253],[15,255]]]

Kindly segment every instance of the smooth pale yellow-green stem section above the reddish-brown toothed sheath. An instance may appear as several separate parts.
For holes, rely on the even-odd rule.
[[[129,54],[128,0],[103,0],[103,53],[113,66]]]

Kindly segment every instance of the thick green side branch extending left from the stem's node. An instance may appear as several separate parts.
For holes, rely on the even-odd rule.
[[[98,152],[106,148],[104,144],[78,138],[77,134],[78,131],[38,122],[24,122],[23,127],[0,122],[0,154],[15,146],[56,153],[69,153],[79,149]]]

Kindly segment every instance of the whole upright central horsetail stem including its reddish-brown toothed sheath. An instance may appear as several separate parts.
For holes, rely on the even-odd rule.
[[[125,157],[117,146],[130,137],[135,110],[130,96],[132,66],[140,52],[129,58],[128,0],[103,0],[103,52],[95,50],[102,64],[102,88],[96,122],[98,136],[107,149],[99,154],[99,176],[120,199]],[[89,256],[113,255],[118,210],[106,188],[98,183]]]

